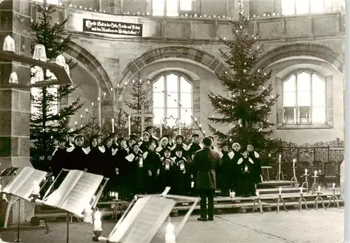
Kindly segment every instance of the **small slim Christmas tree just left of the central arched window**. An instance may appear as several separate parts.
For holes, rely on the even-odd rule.
[[[141,113],[142,106],[144,106],[144,112],[148,112],[152,106],[152,99],[149,98],[152,87],[149,82],[141,81],[140,74],[139,80],[132,81],[132,92],[130,92],[129,101],[125,101],[124,104],[134,113]],[[152,122],[152,118],[145,118],[145,123],[149,124]],[[141,118],[131,118],[131,133],[137,134],[141,137]]]

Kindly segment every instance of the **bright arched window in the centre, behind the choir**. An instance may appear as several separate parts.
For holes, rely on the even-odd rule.
[[[170,118],[181,124],[192,124],[193,85],[190,78],[181,73],[165,73],[153,82],[153,123]]]

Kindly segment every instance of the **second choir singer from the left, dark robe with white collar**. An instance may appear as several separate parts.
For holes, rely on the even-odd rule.
[[[78,135],[74,139],[74,146],[67,148],[68,159],[64,169],[87,169],[87,153],[83,148],[84,138]]]

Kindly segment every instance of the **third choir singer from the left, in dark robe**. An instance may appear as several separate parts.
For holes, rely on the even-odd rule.
[[[87,172],[102,174],[101,162],[104,159],[104,148],[99,146],[99,138],[93,136],[90,139],[90,146],[85,148],[87,153]]]

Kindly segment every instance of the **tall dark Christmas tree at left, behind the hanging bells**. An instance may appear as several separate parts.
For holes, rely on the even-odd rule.
[[[43,1],[42,5],[36,4],[38,22],[33,22],[31,31],[35,33],[34,44],[45,47],[46,60],[54,61],[57,57],[62,58],[62,53],[67,48],[71,36],[66,36],[64,25],[67,22],[55,22],[52,24],[52,15],[56,12],[55,6]],[[64,37],[65,36],[65,37]],[[34,52],[34,46],[32,48]],[[69,69],[73,69],[75,62],[66,62]],[[50,71],[38,67],[31,67],[31,81],[42,75],[41,80],[48,80],[52,77]],[[79,99],[69,105],[59,107],[59,103],[68,99],[69,95],[76,88],[71,85],[49,86],[31,90],[31,118],[30,118],[30,139],[31,139],[31,163],[34,167],[48,169],[48,160],[57,146],[55,140],[59,137],[68,137],[78,134],[85,126],[71,131],[70,123],[73,116],[82,106]],[[34,94],[35,92],[35,94]]]

